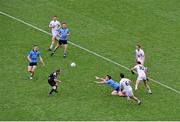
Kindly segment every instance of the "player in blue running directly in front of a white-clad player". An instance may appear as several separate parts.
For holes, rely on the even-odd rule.
[[[53,52],[51,53],[51,56],[54,55],[56,50],[63,44],[64,45],[64,58],[67,56],[67,48],[68,48],[68,36],[70,35],[70,31],[67,28],[66,23],[62,23],[62,28],[58,30],[59,40],[58,44],[54,48]]]

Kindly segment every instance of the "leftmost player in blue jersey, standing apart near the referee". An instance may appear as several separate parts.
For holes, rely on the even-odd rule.
[[[40,58],[40,61],[44,66],[45,64],[44,64],[44,61],[43,61],[42,57],[40,56],[38,46],[33,45],[33,49],[30,51],[30,53],[29,53],[29,55],[27,57],[27,59],[29,61],[28,72],[30,73],[30,80],[33,79],[34,72],[35,72],[35,69],[37,67],[38,57]]]

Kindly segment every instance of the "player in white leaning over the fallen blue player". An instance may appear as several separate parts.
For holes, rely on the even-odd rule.
[[[127,98],[131,98],[131,99],[137,101],[138,105],[141,104],[141,101],[137,97],[135,97],[133,94],[133,90],[130,85],[131,81],[129,79],[125,78],[123,73],[120,74],[119,84],[120,84],[120,90],[122,90],[123,94],[127,95]]]

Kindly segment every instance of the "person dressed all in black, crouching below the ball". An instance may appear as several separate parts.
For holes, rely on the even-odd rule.
[[[57,79],[57,77],[60,75],[60,69],[57,69],[55,72],[51,73],[48,77],[48,83],[52,87],[51,91],[49,92],[49,95],[51,95],[53,92],[58,93],[57,88],[60,80]]]

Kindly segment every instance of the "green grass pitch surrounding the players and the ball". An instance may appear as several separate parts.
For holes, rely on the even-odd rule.
[[[70,41],[127,67],[134,65],[135,44],[146,54],[150,77],[180,90],[179,0],[0,0],[0,11],[50,32],[53,15],[68,23]],[[69,45],[68,58],[59,49],[46,51],[51,37],[0,14],[0,120],[180,120],[180,94],[150,81],[135,93],[138,106],[113,97],[108,86],[93,83],[94,76],[111,74],[119,81],[127,70]],[[35,79],[27,73],[27,54],[38,44],[46,66],[40,63]],[[71,68],[70,63],[77,67]],[[49,97],[47,77],[62,68],[59,93]]]

